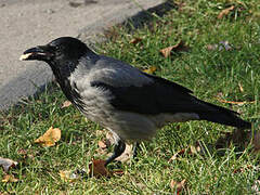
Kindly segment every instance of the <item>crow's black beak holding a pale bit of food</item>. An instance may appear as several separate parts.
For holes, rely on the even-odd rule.
[[[21,61],[50,61],[53,54],[51,53],[49,47],[38,46],[36,48],[28,49],[21,55]]]

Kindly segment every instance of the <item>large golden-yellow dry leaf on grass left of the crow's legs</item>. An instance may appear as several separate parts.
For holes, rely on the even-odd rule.
[[[50,128],[47,132],[35,140],[35,143],[39,143],[42,146],[53,146],[61,139],[61,130],[58,128]]]

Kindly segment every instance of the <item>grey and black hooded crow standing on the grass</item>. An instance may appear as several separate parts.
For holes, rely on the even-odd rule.
[[[88,119],[113,132],[116,145],[106,165],[123,153],[126,141],[147,140],[169,122],[208,120],[251,127],[238,113],[200,101],[178,83],[98,55],[76,38],[61,37],[28,49],[21,60],[48,63],[66,98]]]

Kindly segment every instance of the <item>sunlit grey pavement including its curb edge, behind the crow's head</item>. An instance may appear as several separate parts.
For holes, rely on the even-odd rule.
[[[53,76],[48,65],[21,62],[26,49],[96,32],[162,3],[162,0],[1,0],[0,109],[34,94]]]

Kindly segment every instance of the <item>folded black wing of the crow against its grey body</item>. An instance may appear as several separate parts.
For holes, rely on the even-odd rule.
[[[91,86],[110,91],[113,96],[110,104],[120,110],[155,115],[195,113],[205,107],[190,94],[191,90],[160,77],[143,75],[152,78],[153,82],[141,87],[113,87],[105,82],[93,81]]]

